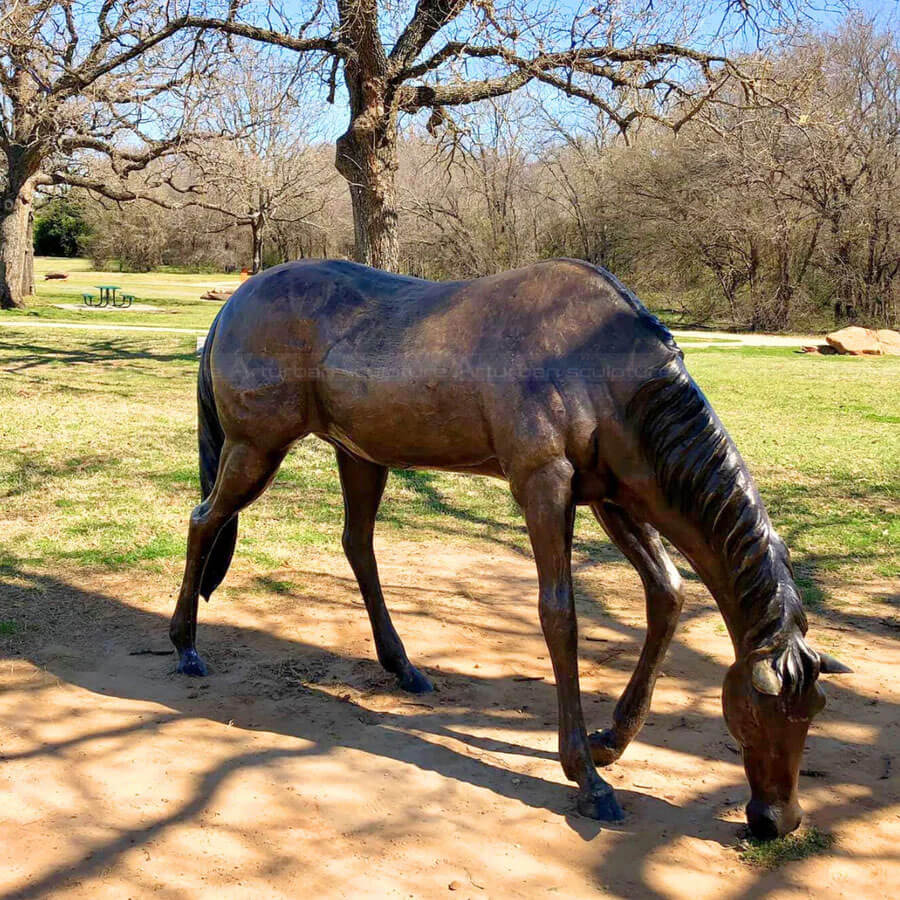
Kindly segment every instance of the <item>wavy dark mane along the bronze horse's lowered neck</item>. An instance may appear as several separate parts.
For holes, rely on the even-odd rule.
[[[748,626],[741,652],[772,655],[787,693],[799,695],[818,674],[818,656],[803,637],[806,614],[787,547],[734,442],[680,360],[641,386],[627,415],[667,502],[731,573]]]

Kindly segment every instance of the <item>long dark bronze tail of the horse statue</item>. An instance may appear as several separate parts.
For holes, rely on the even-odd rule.
[[[225,443],[225,432],[219,421],[219,413],[216,410],[216,398],[213,394],[212,372],[209,365],[209,357],[212,352],[213,338],[219,317],[216,316],[209,329],[206,343],[203,345],[203,355],[200,357],[200,374],[197,378],[197,445],[200,456],[200,487],[203,499],[212,493],[216,483],[216,475],[219,471],[219,458],[222,455],[222,446]],[[228,566],[231,565],[231,557],[234,555],[234,546],[237,542],[237,516],[232,516],[221,528],[209,559],[203,570],[200,581],[200,593],[204,599],[209,600],[212,592],[222,583]]]

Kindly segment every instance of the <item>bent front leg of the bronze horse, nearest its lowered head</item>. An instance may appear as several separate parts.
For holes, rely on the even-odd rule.
[[[613,724],[589,738],[594,762],[605,766],[622,755],[650,712],[653,688],[675,634],[684,596],[681,576],[655,529],[636,522],[624,509],[611,503],[597,503],[591,508],[613,543],[637,569],[647,603],[644,646],[628,686],[616,704]]]

